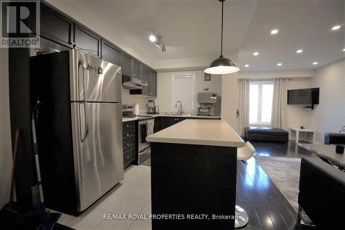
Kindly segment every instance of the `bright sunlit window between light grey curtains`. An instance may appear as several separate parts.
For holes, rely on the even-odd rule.
[[[270,124],[273,102],[273,82],[250,82],[249,123]]]

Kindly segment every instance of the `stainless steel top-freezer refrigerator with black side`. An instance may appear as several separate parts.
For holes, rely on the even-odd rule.
[[[121,67],[78,50],[30,61],[46,205],[78,213],[124,178]]]

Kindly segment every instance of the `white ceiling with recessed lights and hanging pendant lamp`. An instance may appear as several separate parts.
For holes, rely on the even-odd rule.
[[[219,56],[221,4],[217,0],[76,0],[132,48],[152,61]],[[310,70],[344,58],[344,1],[228,0],[224,52],[238,50],[243,71]],[[270,30],[279,29],[277,35]],[[167,52],[148,40],[163,36]],[[297,55],[296,50],[304,52]],[[253,56],[253,52],[259,55]],[[231,57],[229,57],[231,59]],[[236,59],[236,57],[235,57]],[[319,64],[314,66],[312,63]],[[282,66],[277,66],[277,63]],[[248,68],[244,65],[249,64]]]

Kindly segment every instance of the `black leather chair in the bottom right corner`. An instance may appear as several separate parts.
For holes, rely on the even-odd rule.
[[[302,158],[298,204],[318,229],[345,229],[345,173],[317,157]]]

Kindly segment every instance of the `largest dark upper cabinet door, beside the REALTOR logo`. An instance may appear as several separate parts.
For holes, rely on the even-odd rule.
[[[41,4],[40,13],[41,37],[55,41],[63,46],[73,48],[73,21],[44,4]]]

